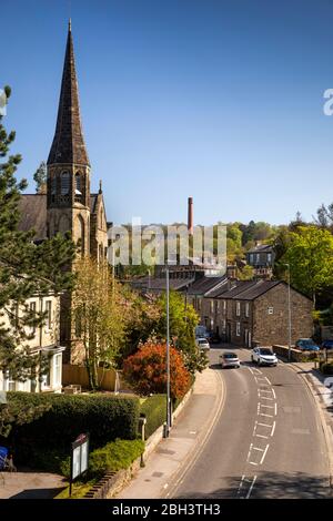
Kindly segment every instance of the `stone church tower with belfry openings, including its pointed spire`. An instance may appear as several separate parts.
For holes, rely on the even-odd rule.
[[[71,22],[69,22],[56,133],[48,159],[47,234],[71,232],[90,253],[90,163],[81,125]]]

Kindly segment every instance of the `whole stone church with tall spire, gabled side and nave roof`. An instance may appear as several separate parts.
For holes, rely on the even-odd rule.
[[[34,228],[36,241],[70,231],[82,255],[98,260],[107,257],[108,223],[100,182],[98,193],[90,192],[90,161],[83,139],[79,104],[71,22],[61,82],[56,133],[48,159],[47,186],[37,194],[22,195],[20,228]],[[63,307],[68,304],[63,302]],[[60,341],[67,346],[64,361],[72,360],[73,326],[61,320]]]

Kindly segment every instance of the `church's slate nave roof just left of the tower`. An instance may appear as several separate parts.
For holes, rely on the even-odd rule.
[[[47,194],[24,194],[19,201],[21,232],[36,231],[36,241],[47,238]]]

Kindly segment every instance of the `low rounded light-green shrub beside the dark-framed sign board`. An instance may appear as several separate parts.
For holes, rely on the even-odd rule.
[[[115,440],[94,450],[89,457],[89,476],[100,477],[105,472],[128,469],[144,451],[142,440]]]

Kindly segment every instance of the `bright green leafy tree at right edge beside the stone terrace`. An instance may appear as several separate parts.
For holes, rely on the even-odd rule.
[[[290,264],[291,283],[313,298],[333,285],[333,236],[316,226],[299,226],[290,233],[290,245],[280,260]]]

